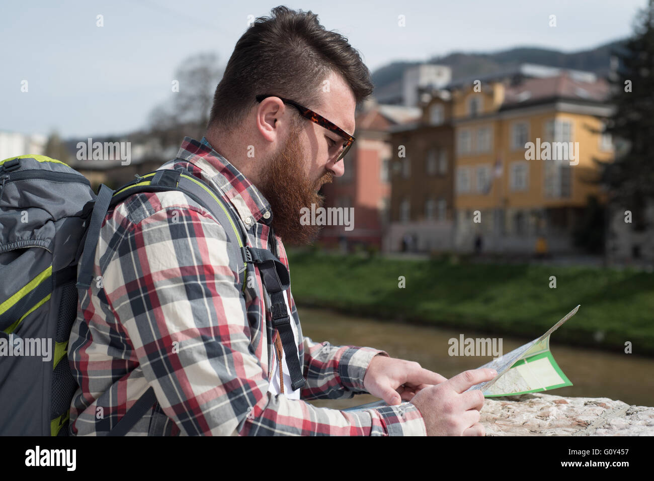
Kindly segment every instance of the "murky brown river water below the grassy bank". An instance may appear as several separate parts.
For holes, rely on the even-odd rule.
[[[489,357],[449,356],[451,338],[487,338],[470,329],[441,329],[370,318],[346,316],[328,310],[298,308],[302,333],[333,345],[370,346],[385,350],[391,357],[417,361],[422,367],[451,378],[475,369]],[[563,327],[562,327],[563,328]],[[502,338],[504,354],[530,339]],[[634,354],[615,354],[557,344],[557,333],[550,337],[550,351],[561,370],[574,384],[549,393],[559,396],[608,397],[629,405],[654,406],[654,359]],[[376,401],[371,395],[356,395],[341,401],[311,401],[313,405],[342,409]]]

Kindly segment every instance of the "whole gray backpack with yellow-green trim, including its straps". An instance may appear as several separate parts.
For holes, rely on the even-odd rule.
[[[90,182],[65,163],[20,156],[0,161],[0,435],[71,434],[70,406],[78,386],[67,347],[81,315],[79,296],[95,282],[101,224],[109,208],[127,197],[166,190],[182,191],[224,226],[241,291],[247,265],[258,265],[293,388],[304,385],[283,297],[290,285],[288,270],[268,250],[247,246],[233,209],[204,182],[184,169],[161,169],[115,191],[101,184],[95,195]],[[154,403],[149,388],[109,435],[128,433]]]

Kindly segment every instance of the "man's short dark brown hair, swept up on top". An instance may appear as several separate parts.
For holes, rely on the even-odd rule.
[[[347,38],[325,30],[317,14],[284,6],[271,14],[257,18],[236,42],[216,88],[207,128],[232,131],[262,93],[320,107],[322,82],[332,72],[343,76],[357,104],[372,93],[370,71],[358,51]]]

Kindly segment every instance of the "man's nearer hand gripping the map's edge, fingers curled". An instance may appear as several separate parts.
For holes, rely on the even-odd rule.
[[[420,410],[427,435],[485,436],[479,423],[484,395],[481,390],[464,391],[496,375],[492,369],[471,369],[418,391],[410,402]]]

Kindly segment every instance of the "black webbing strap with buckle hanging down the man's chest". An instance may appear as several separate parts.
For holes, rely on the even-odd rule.
[[[249,255],[247,261],[259,266],[264,287],[270,295],[271,314],[273,318],[273,327],[279,332],[282,341],[282,347],[286,354],[286,364],[290,374],[292,389],[298,390],[304,386],[305,380],[300,368],[300,359],[298,357],[298,346],[296,345],[293,329],[290,324],[290,317],[284,300],[284,291],[290,285],[290,276],[288,269],[283,263],[269,250],[258,249],[254,247],[246,248]],[[279,367],[281,369],[281,366]]]

